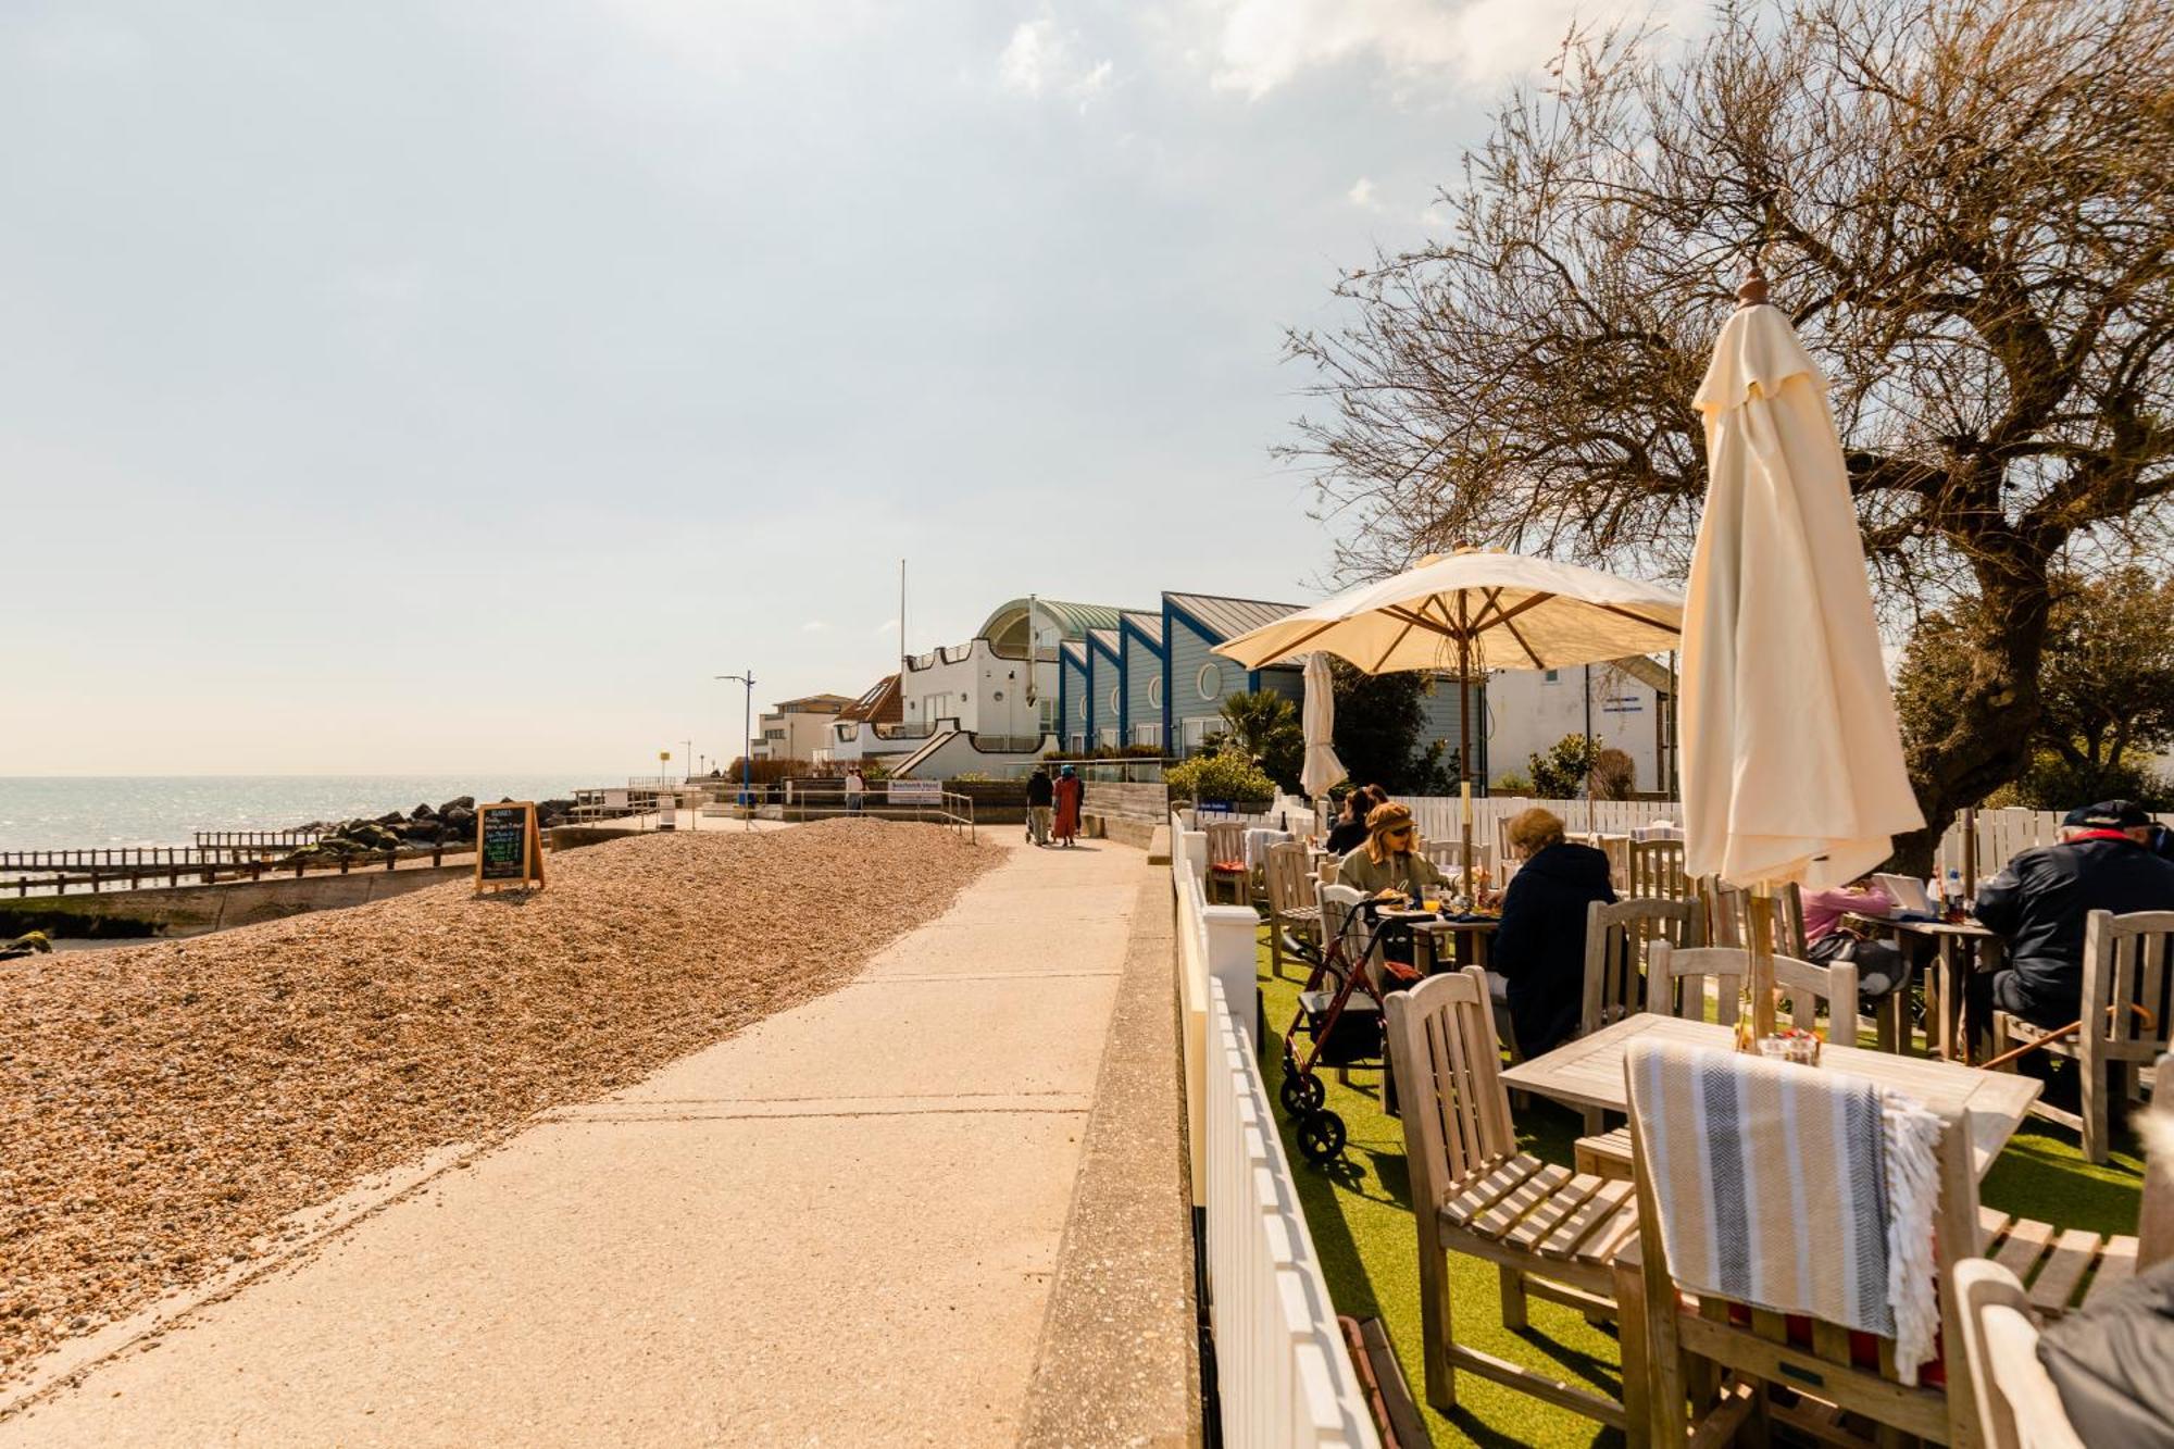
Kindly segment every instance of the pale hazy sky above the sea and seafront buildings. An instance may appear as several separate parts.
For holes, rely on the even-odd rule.
[[[900,559],[1315,598],[1285,329],[1657,9],[11,0],[0,775],[733,755]]]

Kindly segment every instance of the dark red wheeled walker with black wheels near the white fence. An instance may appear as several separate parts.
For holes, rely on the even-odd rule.
[[[1298,1012],[1283,1031],[1283,1110],[1298,1129],[1298,1151],[1322,1166],[1344,1153],[1344,1118],[1324,1103],[1320,1068],[1383,1066],[1383,994],[1417,979],[1409,966],[1380,957],[1396,922],[1380,918],[1389,901],[1363,899],[1346,886],[1322,886],[1324,946],[1285,938],[1285,949],[1307,962]],[[1374,962],[1383,979],[1367,970]]]

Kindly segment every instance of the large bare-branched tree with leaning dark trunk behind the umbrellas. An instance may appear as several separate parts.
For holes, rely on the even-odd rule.
[[[1754,248],[1828,376],[1885,618],[1976,594],[1915,738],[1939,831],[2028,761],[2052,577],[2161,546],[2174,492],[2174,0],[1726,4],[1696,48],[1576,33],[1294,333],[1285,448],[1363,577],[1457,542],[1681,574],[1691,394]],[[1776,640],[1776,648],[1787,648]],[[1926,838],[1904,857],[1926,855]]]

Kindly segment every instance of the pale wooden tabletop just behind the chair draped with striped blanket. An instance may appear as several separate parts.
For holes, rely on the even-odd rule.
[[[1635,1012],[1611,1027],[1565,1042],[1530,1062],[1502,1068],[1502,1086],[1552,1097],[1572,1107],[1628,1112],[1624,1055],[1630,1042],[1639,1038],[1683,1042],[1687,1046],[1720,1046],[1724,1051],[1735,1049],[1737,1042],[1733,1027]],[[1807,1070],[1872,1077],[1881,1086],[1909,1092],[1933,1112],[1970,1112],[1970,1151],[1981,1179],[1994,1166],[2000,1149],[2015,1136],[2024,1112],[2031,1110],[2031,1103],[2039,1094],[2037,1077],[1987,1073],[1976,1066],[1961,1066],[1959,1062],[1902,1057],[1891,1051],[1865,1051],[1861,1046],[1828,1044],[1820,1053],[1820,1066]]]

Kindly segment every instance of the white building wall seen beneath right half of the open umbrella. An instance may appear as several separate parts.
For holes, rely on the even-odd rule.
[[[1591,711],[1587,714],[1587,701]],[[1530,775],[1563,735],[1591,720],[1594,742],[1630,757],[1637,792],[1676,790],[1676,694],[1667,668],[1633,655],[1563,670],[1487,674],[1487,777]]]

